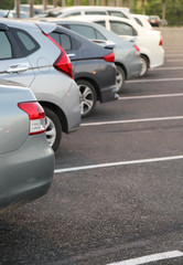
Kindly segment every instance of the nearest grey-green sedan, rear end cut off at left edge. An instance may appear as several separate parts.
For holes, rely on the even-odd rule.
[[[54,153],[45,115],[31,89],[0,81],[0,213],[45,194]]]

